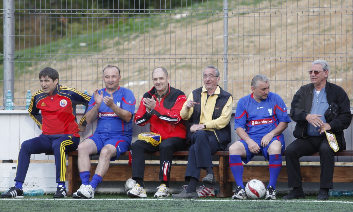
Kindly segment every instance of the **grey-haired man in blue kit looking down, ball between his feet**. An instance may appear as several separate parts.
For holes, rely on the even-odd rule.
[[[282,152],[286,145],[282,132],[291,122],[287,108],[278,94],[270,92],[265,75],[251,81],[252,94],[239,99],[235,111],[234,129],[240,137],[229,147],[231,167],[237,190],[233,199],[247,199],[243,183],[243,163],[248,163],[259,152],[269,161],[270,182],[265,199],[276,199],[276,182],[282,167]]]

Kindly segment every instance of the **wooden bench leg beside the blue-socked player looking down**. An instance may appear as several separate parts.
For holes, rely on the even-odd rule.
[[[217,197],[229,197],[233,195],[233,183],[228,182],[228,167],[229,167],[229,156],[220,156],[220,193]]]

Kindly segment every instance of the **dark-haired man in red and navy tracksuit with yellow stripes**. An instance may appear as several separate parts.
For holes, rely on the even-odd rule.
[[[42,89],[32,96],[28,112],[42,130],[42,134],[22,143],[18,154],[15,185],[2,194],[1,198],[23,197],[22,184],[31,154],[49,152],[54,152],[58,183],[54,198],[66,197],[65,154],[77,149],[80,142],[79,131],[84,131],[86,125],[85,116],[79,124],[77,123],[76,105],[88,106],[90,96],[75,88],[59,85],[59,73],[51,67],[39,72],[39,80]]]

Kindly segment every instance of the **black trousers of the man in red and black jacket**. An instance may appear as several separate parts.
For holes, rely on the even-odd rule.
[[[152,146],[146,141],[137,140],[131,144],[132,177],[144,177],[145,153],[160,152],[159,180],[169,181],[170,166],[172,165],[173,153],[186,148],[186,139],[171,137],[164,139],[158,146]]]

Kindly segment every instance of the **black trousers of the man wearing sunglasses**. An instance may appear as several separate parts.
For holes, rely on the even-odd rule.
[[[332,188],[335,156],[325,135],[296,139],[286,148],[288,187],[302,186],[299,158],[315,152],[320,155],[320,188]]]

